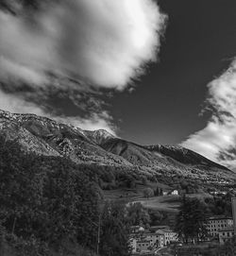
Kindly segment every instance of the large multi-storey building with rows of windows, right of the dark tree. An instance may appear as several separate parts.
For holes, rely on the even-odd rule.
[[[211,236],[219,235],[218,231],[233,226],[233,219],[226,216],[213,216],[207,220],[207,230]]]

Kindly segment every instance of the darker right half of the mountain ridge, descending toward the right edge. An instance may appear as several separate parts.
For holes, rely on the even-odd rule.
[[[206,182],[227,182],[234,177],[227,167],[180,146],[143,146],[119,138],[111,138],[101,146],[149,173],[171,177],[180,175]]]

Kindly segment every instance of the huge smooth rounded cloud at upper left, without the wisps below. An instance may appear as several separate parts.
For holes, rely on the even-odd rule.
[[[36,82],[52,71],[123,89],[157,60],[164,21],[152,0],[59,1],[33,15],[0,12],[0,54],[10,75],[14,62]]]

